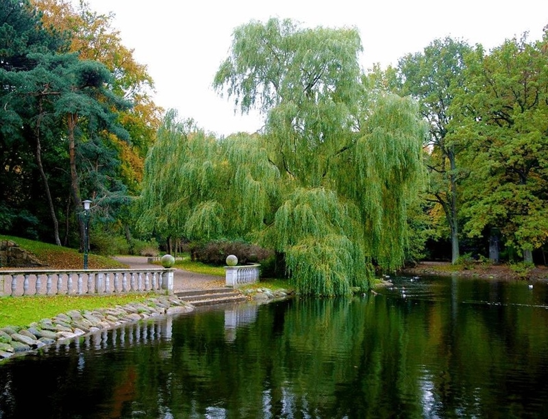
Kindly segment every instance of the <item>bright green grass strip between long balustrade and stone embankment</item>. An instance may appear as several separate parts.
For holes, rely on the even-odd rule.
[[[93,310],[145,301],[153,294],[112,296],[5,296],[0,297],[0,327],[27,327],[42,318],[52,318],[70,310]]]

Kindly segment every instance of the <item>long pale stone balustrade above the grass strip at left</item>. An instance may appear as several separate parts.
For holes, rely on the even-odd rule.
[[[0,270],[0,296],[173,294],[174,269]]]

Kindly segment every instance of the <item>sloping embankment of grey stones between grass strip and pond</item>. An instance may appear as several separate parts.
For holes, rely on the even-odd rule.
[[[51,319],[34,322],[27,328],[3,327],[0,329],[0,360],[55,342],[113,329],[128,322],[187,313],[193,309],[191,304],[179,300],[176,296],[158,296],[143,303],[129,303],[91,311],[71,310]]]

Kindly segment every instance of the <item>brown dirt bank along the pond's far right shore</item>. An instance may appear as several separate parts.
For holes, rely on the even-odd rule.
[[[529,281],[548,281],[548,266],[536,266],[525,275],[520,276],[508,265],[477,265],[471,269],[456,269],[449,262],[419,262],[414,267],[401,270],[403,275],[436,275],[462,277],[479,277],[495,279],[524,279]]]

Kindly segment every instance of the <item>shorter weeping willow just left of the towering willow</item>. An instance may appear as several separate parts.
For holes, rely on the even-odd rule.
[[[166,238],[252,240],[273,218],[278,178],[258,136],[218,140],[169,110],[145,161],[140,228]]]

